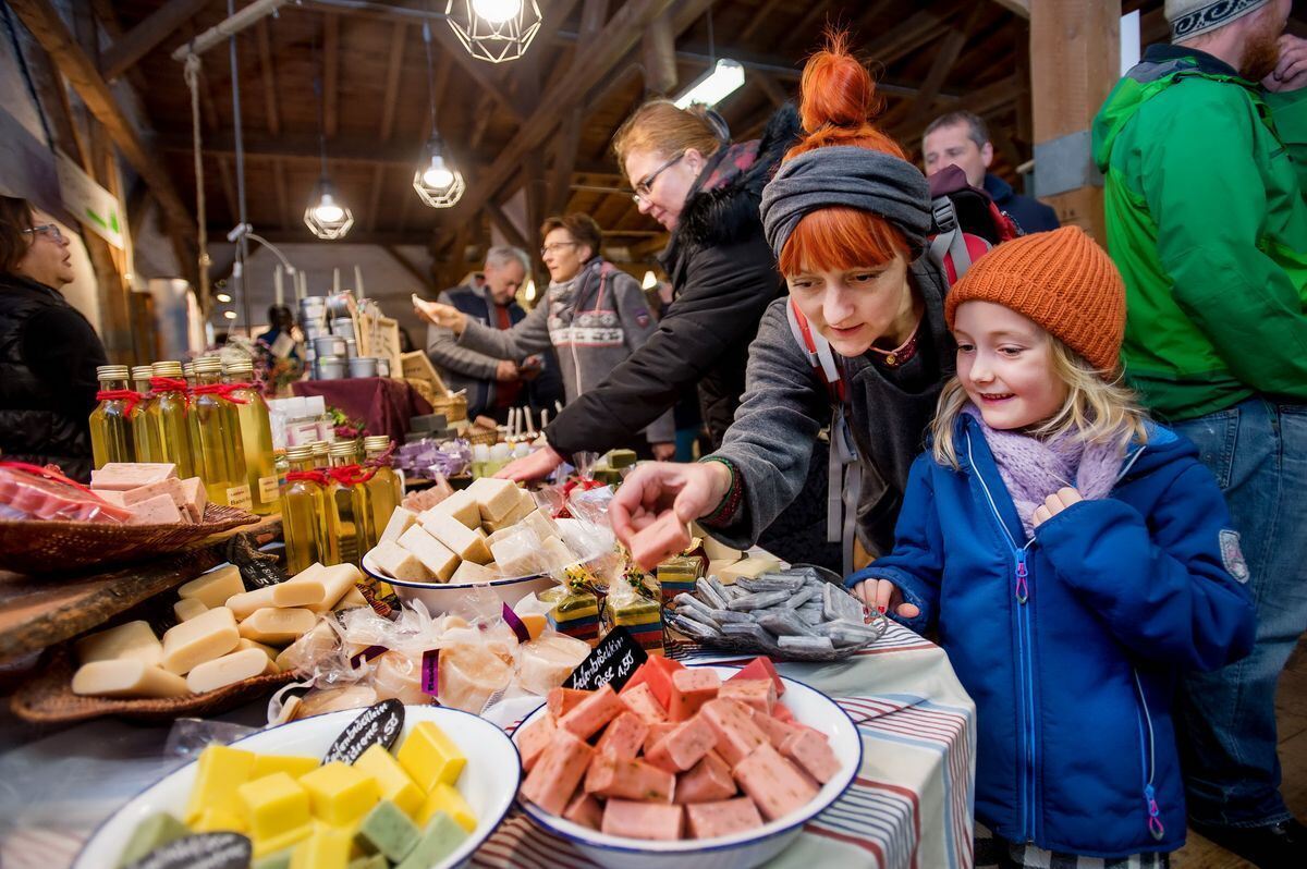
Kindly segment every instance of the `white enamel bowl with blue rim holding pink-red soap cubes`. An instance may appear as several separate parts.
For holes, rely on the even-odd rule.
[[[735,666],[711,666],[725,681],[738,672]],[[680,839],[677,842],[651,842],[612,836],[549,814],[527,800],[518,805],[535,823],[549,832],[571,842],[578,851],[604,866],[604,869],[750,869],[771,860],[786,849],[802,831],[802,826],[821,814],[839,798],[857,776],[863,763],[863,742],[857,728],[829,697],[782,677],[786,694],[782,702],[795,713],[795,720],[813,727],[830,737],[830,747],[839,759],[839,775],[822,785],[813,800],[795,812],[776,818],[757,830],[715,839]],[[537,708],[521,723],[521,733],[532,721],[545,715]]]

